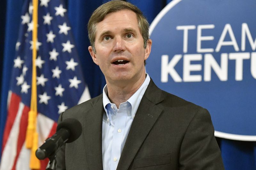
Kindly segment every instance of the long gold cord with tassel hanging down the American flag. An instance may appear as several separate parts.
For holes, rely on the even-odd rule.
[[[36,89],[36,42],[37,42],[37,21],[38,19],[38,0],[33,0],[33,31],[32,31],[32,87],[30,111],[28,113],[28,127],[26,132],[26,147],[31,149],[30,164],[31,169],[40,169],[40,160],[36,158],[38,147],[38,133],[36,130],[37,120],[37,89]]]

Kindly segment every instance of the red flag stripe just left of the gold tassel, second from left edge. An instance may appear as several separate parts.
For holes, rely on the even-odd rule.
[[[20,155],[20,150],[25,142],[26,139],[26,131],[28,127],[28,112],[30,108],[28,106],[25,106],[22,115],[20,118],[20,128],[19,128],[19,136],[18,136],[18,141],[17,141],[17,153],[13,162],[12,170],[15,170],[16,168],[16,163]]]

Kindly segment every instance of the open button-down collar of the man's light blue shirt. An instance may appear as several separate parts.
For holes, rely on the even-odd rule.
[[[144,80],[143,84],[140,86],[140,88],[127,100],[131,105],[132,105],[132,117],[135,116],[137,109],[139,107],[140,101],[148,87],[148,84],[150,82],[150,78],[148,74],[146,74],[146,79]],[[107,111],[107,105],[111,102],[108,99],[108,87],[107,84],[103,88],[103,107],[107,113],[107,118],[108,118],[108,111]]]

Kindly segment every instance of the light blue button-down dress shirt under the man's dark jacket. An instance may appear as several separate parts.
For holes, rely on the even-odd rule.
[[[146,79],[140,88],[117,109],[107,96],[107,85],[103,88],[103,114],[102,121],[102,161],[104,170],[116,170],[124,143],[137,112],[142,96],[144,95],[150,78]]]

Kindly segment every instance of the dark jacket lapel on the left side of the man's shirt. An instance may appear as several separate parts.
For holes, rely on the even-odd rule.
[[[102,95],[92,109],[85,114],[84,120],[84,140],[86,148],[86,158],[90,169],[102,170],[102,116],[104,108]]]

